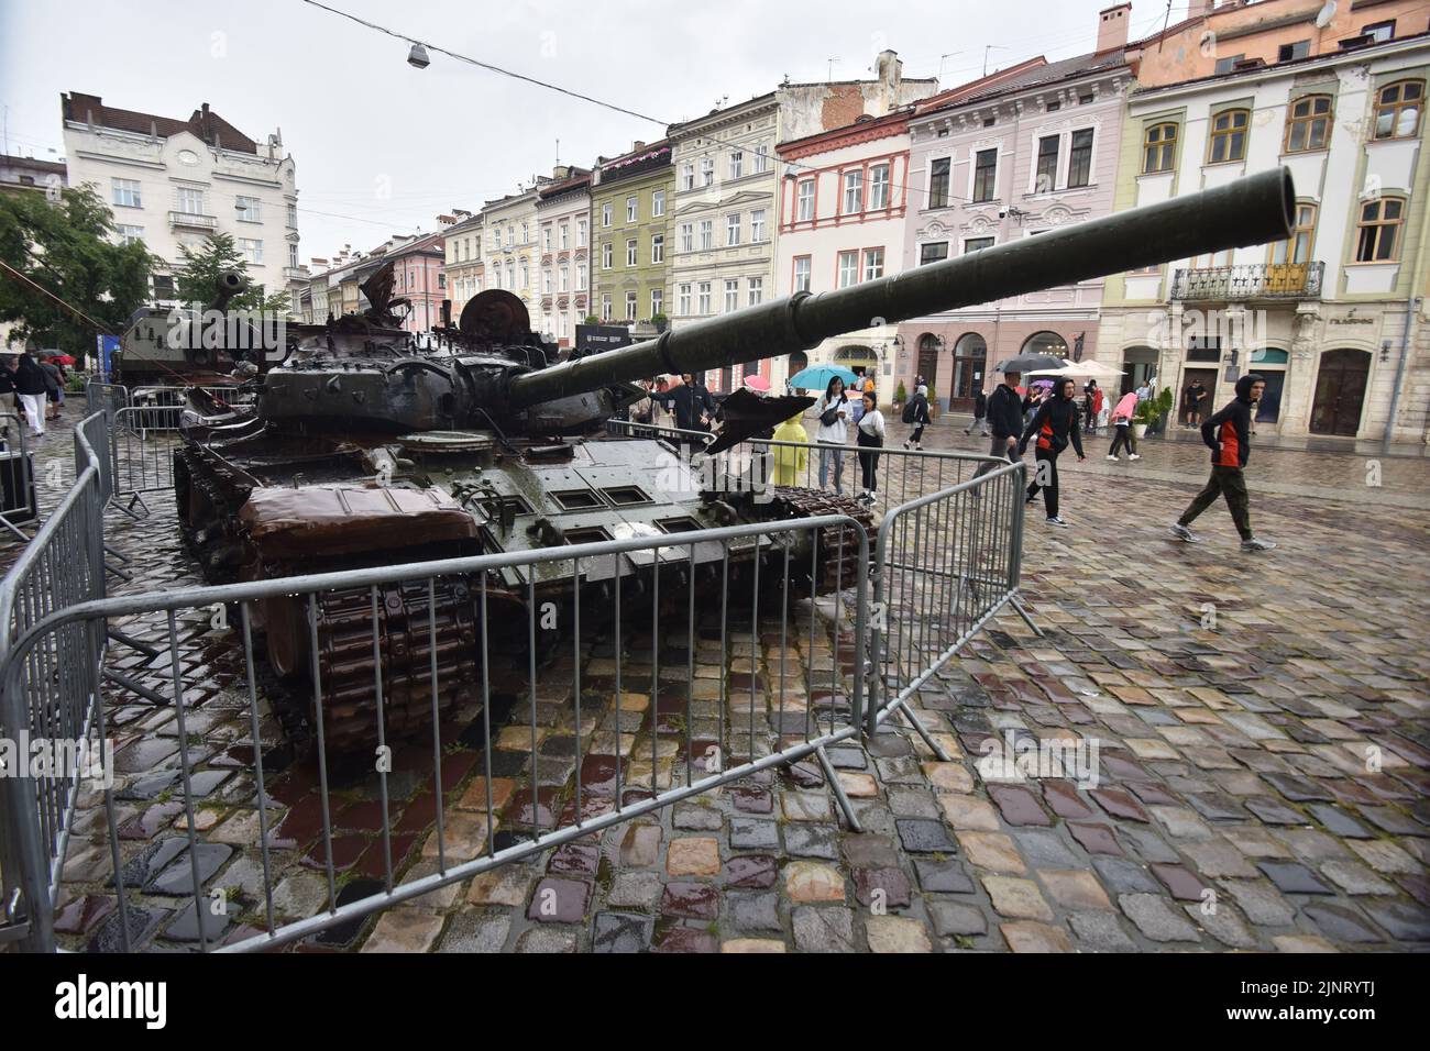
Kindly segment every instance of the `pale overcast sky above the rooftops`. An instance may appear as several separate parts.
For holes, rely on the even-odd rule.
[[[884,47],[905,76],[945,86],[977,77],[988,44],[990,70],[1091,51],[1113,0],[325,1],[659,123],[442,54],[412,69],[406,43],[303,0],[0,0],[7,152],[63,156],[61,92],[177,119],[207,102],[260,142],[282,129],[306,263],[551,174],[558,139],[563,163],[588,166],[785,74],[869,77]],[[1171,17],[1184,10],[1174,0]],[[1165,0],[1134,0],[1133,37],[1164,17]]]

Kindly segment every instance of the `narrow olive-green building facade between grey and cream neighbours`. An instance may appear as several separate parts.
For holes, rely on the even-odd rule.
[[[636,143],[596,164],[591,186],[591,310],[602,322],[664,320],[671,310],[669,142]]]

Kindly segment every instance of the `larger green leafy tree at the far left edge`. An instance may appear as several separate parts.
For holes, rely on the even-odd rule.
[[[116,245],[114,219],[90,186],[0,193],[0,259],[120,335],[149,295],[157,262],[143,245]],[[13,336],[83,359],[94,326],[9,275],[0,275],[0,322]]]

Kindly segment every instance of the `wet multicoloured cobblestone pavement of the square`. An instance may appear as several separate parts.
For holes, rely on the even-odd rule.
[[[917,701],[954,761],[934,761],[899,731],[877,735],[867,751],[832,749],[864,834],[842,829],[818,766],[799,764],[448,887],[302,948],[1424,948],[1430,632],[1421,592],[1430,579],[1430,463],[1387,458],[1371,468],[1357,456],[1253,448],[1253,523],[1280,546],[1247,556],[1223,506],[1198,520],[1200,545],[1167,536],[1167,523],[1204,480],[1204,450],[1147,442],[1143,460],[1113,465],[1095,459],[1105,440],[1094,439],[1088,463],[1064,466],[1071,529],[1028,516],[1024,593],[1045,636],[1002,615]],[[932,428],[925,445],[980,446],[948,425]],[[70,456],[67,433],[44,439],[41,479],[44,462]],[[1379,485],[1367,485],[1374,472]],[[57,492],[47,498],[41,485],[41,502],[49,506]],[[110,543],[133,559],[132,586],[196,582],[162,496],[153,505],[144,522],[110,518]],[[726,668],[702,633],[696,716],[716,714],[722,676],[741,676],[741,685],[754,679],[772,709],[781,704],[772,673],[781,656],[801,668],[834,666],[828,638],[808,642],[819,611],[807,603],[798,618],[801,631],[792,635],[799,641],[784,649],[768,625],[735,625]],[[194,684],[190,758],[199,759],[194,794],[202,796],[196,861],[206,891],[223,889],[229,901],[210,932],[232,939],[252,934],[263,912],[253,746],[243,696],[235,696],[242,676],[232,646],[202,618],[186,618],[183,633],[186,684]],[[684,672],[685,652],[671,656]],[[578,761],[599,772],[601,748],[611,761],[626,756],[631,785],[654,776],[664,786],[681,776],[676,744],[662,741],[671,728],[662,726],[659,694],[654,705],[648,694],[623,694],[623,725],[641,719],[641,728],[631,742],[612,732],[608,658],[595,638],[582,648],[583,682],[598,692],[583,701],[581,739],[595,739],[583,758],[569,698],[573,658],[543,669],[536,792],[526,769],[525,708],[495,706],[493,719],[511,718],[513,731],[498,736],[492,754],[498,847],[533,812],[546,822],[563,811],[569,818],[575,811],[562,782]],[[167,675],[139,655],[119,662],[156,681]],[[805,701],[798,688],[784,698]],[[140,887],[132,898],[133,932],[150,948],[193,948],[173,712],[129,698],[114,702],[127,882]],[[478,775],[483,756],[463,744],[460,722],[450,728],[440,775],[449,859],[475,857],[488,834]],[[280,918],[312,915],[327,895],[316,771],[285,745],[272,715],[260,736],[276,825],[275,909]],[[658,758],[641,769],[635,756],[652,739]],[[997,771],[985,756],[1008,742],[1018,754],[1041,745],[1052,762],[1064,745],[1084,751],[1061,752],[1064,766],[1051,772],[1064,776],[990,779],[985,774]],[[1070,756],[1088,756],[1094,742],[1095,784],[1080,784],[1067,776]],[[1071,772],[1087,774],[1075,764]],[[399,879],[436,865],[435,782],[430,749],[399,751],[390,779]],[[347,901],[380,887],[380,805],[372,779],[339,776],[333,791],[333,859],[339,899]],[[609,801],[593,789],[588,805]],[[66,862],[59,929],[73,948],[117,944],[96,804],[96,796],[82,801]]]

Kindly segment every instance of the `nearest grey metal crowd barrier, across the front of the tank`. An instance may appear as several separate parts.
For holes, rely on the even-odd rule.
[[[72,498],[83,500],[86,513],[97,513],[97,468],[87,469],[86,485]],[[93,566],[93,549],[89,558]],[[96,878],[113,881],[117,929],[126,951],[132,948],[129,909],[150,908],[153,894],[193,899],[193,937],[200,948],[263,949],[350,924],[448,884],[585,839],[679,799],[811,755],[824,765],[827,784],[851,827],[858,828],[824,748],[861,732],[864,676],[859,669],[868,561],[864,529],[851,518],[827,515],[704,529],[655,541],[603,541],[112,599],[74,592],[67,595],[74,605],[59,612],[46,608],[49,615],[41,618],[27,615],[23,635],[0,663],[4,719],[13,726],[26,712],[31,714],[31,721],[34,714],[56,712],[64,715],[56,729],[84,732],[82,716],[93,714],[94,725],[103,732],[112,698],[99,689],[100,655],[94,649],[72,653],[74,659],[60,665],[66,671],[59,676],[51,675],[54,665],[49,655],[60,639],[103,639],[104,625],[112,619],[124,631],[157,643],[154,675],[166,681],[177,724],[179,778],[173,791],[176,798],[182,794],[187,818],[183,831],[166,848],[173,851],[180,878],[159,889],[149,884],[127,885],[114,786],[104,788],[103,821],[86,822],[86,828],[94,829],[90,834],[94,851],[103,854],[106,839],[109,847],[110,871]],[[96,571],[90,572],[89,582],[97,585]],[[827,592],[829,586],[841,589],[832,609],[825,601],[797,603],[798,598]],[[702,595],[699,603],[696,592]],[[423,593],[426,612],[418,603],[403,613],[405,626],[396,623],[396,611],[403,603],[393,599]],[[459,646],[470,646],[475,658],[469,681],[463,681],[452,663],[455,651],[446,635],[452,621],[432,612],[438,596],[445,596],[449,611],[456,609],[453,603],[465,611],[453,616],[466,625]],[[320,625],[329,623],[326,618],[333,602],[347,613],[340,649],[350,663],[342,668],[332,663],[336,649],[329,645],[337,636],[319,636]],[[522,606],[525,613],[516,613]],[[280,616],[280,609],[289,615]],[[552,609],[559,609],[565,623],[556,633],[548,623]],[[229,646],[236,651],[232,666],[243,669],[225,692],[230,698],[246,696],[246,728],[255,742],[252,762],[257,798],[252,804],[257,828],[247,849],[237,854],[252,869],[260,869],[263,878],[262,889],[246,902],[227,901],[222,892],[216,895],[212,888],[217,874],[210,867],[200,874],[197,861],[209,838],[194,821],[199,799],[193,784],[207,748],[200,744],[202,734],[194,739],[190,731],[206,725],[203,716],[210,714],[192,699],[186,678],[196,661],[213,659],[214,626],[220,623],[216,611],[229,611],[222,623]],[[267,715],[262,711],[260,678],[255,671],[265,661],[260,631],[269,645],[280,631],[289,631],[295,645],[303,633],[307,636],[320,857],[327,889],[326,901],[312,909],[312,915],[296,914],[290,901],[275,898],[283,859],[276,857],[270,835],[269,789],[275,778],[265,772],[260,722],[266,722]],[[390,635],[400,638],[395,641]],[[719,666],[725,671],[718,678],[696,676],[696,651],[705,648],[714,659],[716,639]],[[399,642],[408,662],[393,668]],[[609,655],[599,669],[583,663],[583,646],[592,645]],[[797,649],[807,656],[804,672],[792,656]],[[295,659],[303,666],[303,658]],[[731,668],[744,678],[729,673]],[[139,673],[133,666],[129,672]],[[496,685],[512,684],[516,694],[509,709],[516,716],[505,728],[493,718],[493,678],[498,675],[502,679]],[[325,695],[325,682],[340,701]],[[628,708],[632,699],[628,691],[646,689],[645,704]],[[342,715],[342,705],[352,702],[355,691],[365,692],[372,702],[366,724],[370,738],[356,752],[363,756],[363,771],[372,768],[375,748],[380,756],[389,742],[400,744],[392,726],[413,706],[418,712],[426,706],[419,738],[425,744],[413,752],[420,748],[429,758],[410,759],[413,765],[408,768],[393,766],[403,762],[399,756],[405,754],[396,752],[388,765],[379,761],[376,769],[362,774],[365,798],[380,801],[380,829],[375,829],[370,849],[382,852],[383,879],[380,888],[347,901],[339,898],[335,838],[342,825],[335,825],[337,811],[332,798],[333,765],[343,756],[330,754],[329,745],[335,739],[346,741],[346,748],[355,745],[355,716]],[[479,752],[476,758],[468,756],[472,772],[465,784],[470,798],[480,802],[468,799],[465,808],[458,806],[463,799],[458,791],[463,782],[453,778],[449,786],[443,779],[443,764],[453,761],[449,749],[455,732],[443,734],[443,726],[449,725],[443,719],[443,699],[452,701],[453,695],[459,704],[480,704],[476,722],[460,734],[462,741]],[[541,746],[552,721],[563,734],[573,735],[562,751]],[[528,729],[529,748],[518,744]],[[496,746],[502,751],[496,752]],[[513,748],[525,752],[523,774],[515,772],[509,762]],[[493,754],[502,759],[498,774],[525,781],[525,791],[513,796],[511,805],[503,805],[493,785]],[[405,855],[393,842],[389,775],[406,776],[416,771],[420,776],[425,769],[432,771],[435,789],[435,851],[425,852],[435,854],[436,871],[400,879]],[[23,829],[19,859],[30,922],[23,944],[31,949],[53,949],[56,944],[50,907],[64,858],[64,838],[54,834],[69,828],[59,821],[63,808],[54,796],[57,788],[60,785],[26,776],[10,779],[7,785],[9,821],[13,828]],[[207,857],[217,849],[207,848]],[[226,855],[227,848],[222,852]],[[296,862],[293,854],[286,858],[289,865]],[[313,855],[317,854],[315,848]],[[6,871],[10,872],[9,865]],[[136,891],[144,894],[142,902],[132,901]],[[553,884],[552,892],[571,892],[571,885]],[[217,911],[214,902],[219,902]],[[262,931],[233,939],[229,924],[240,904],[249,915],[245,922]],[[225,941],[226,934],[229,941]]]

